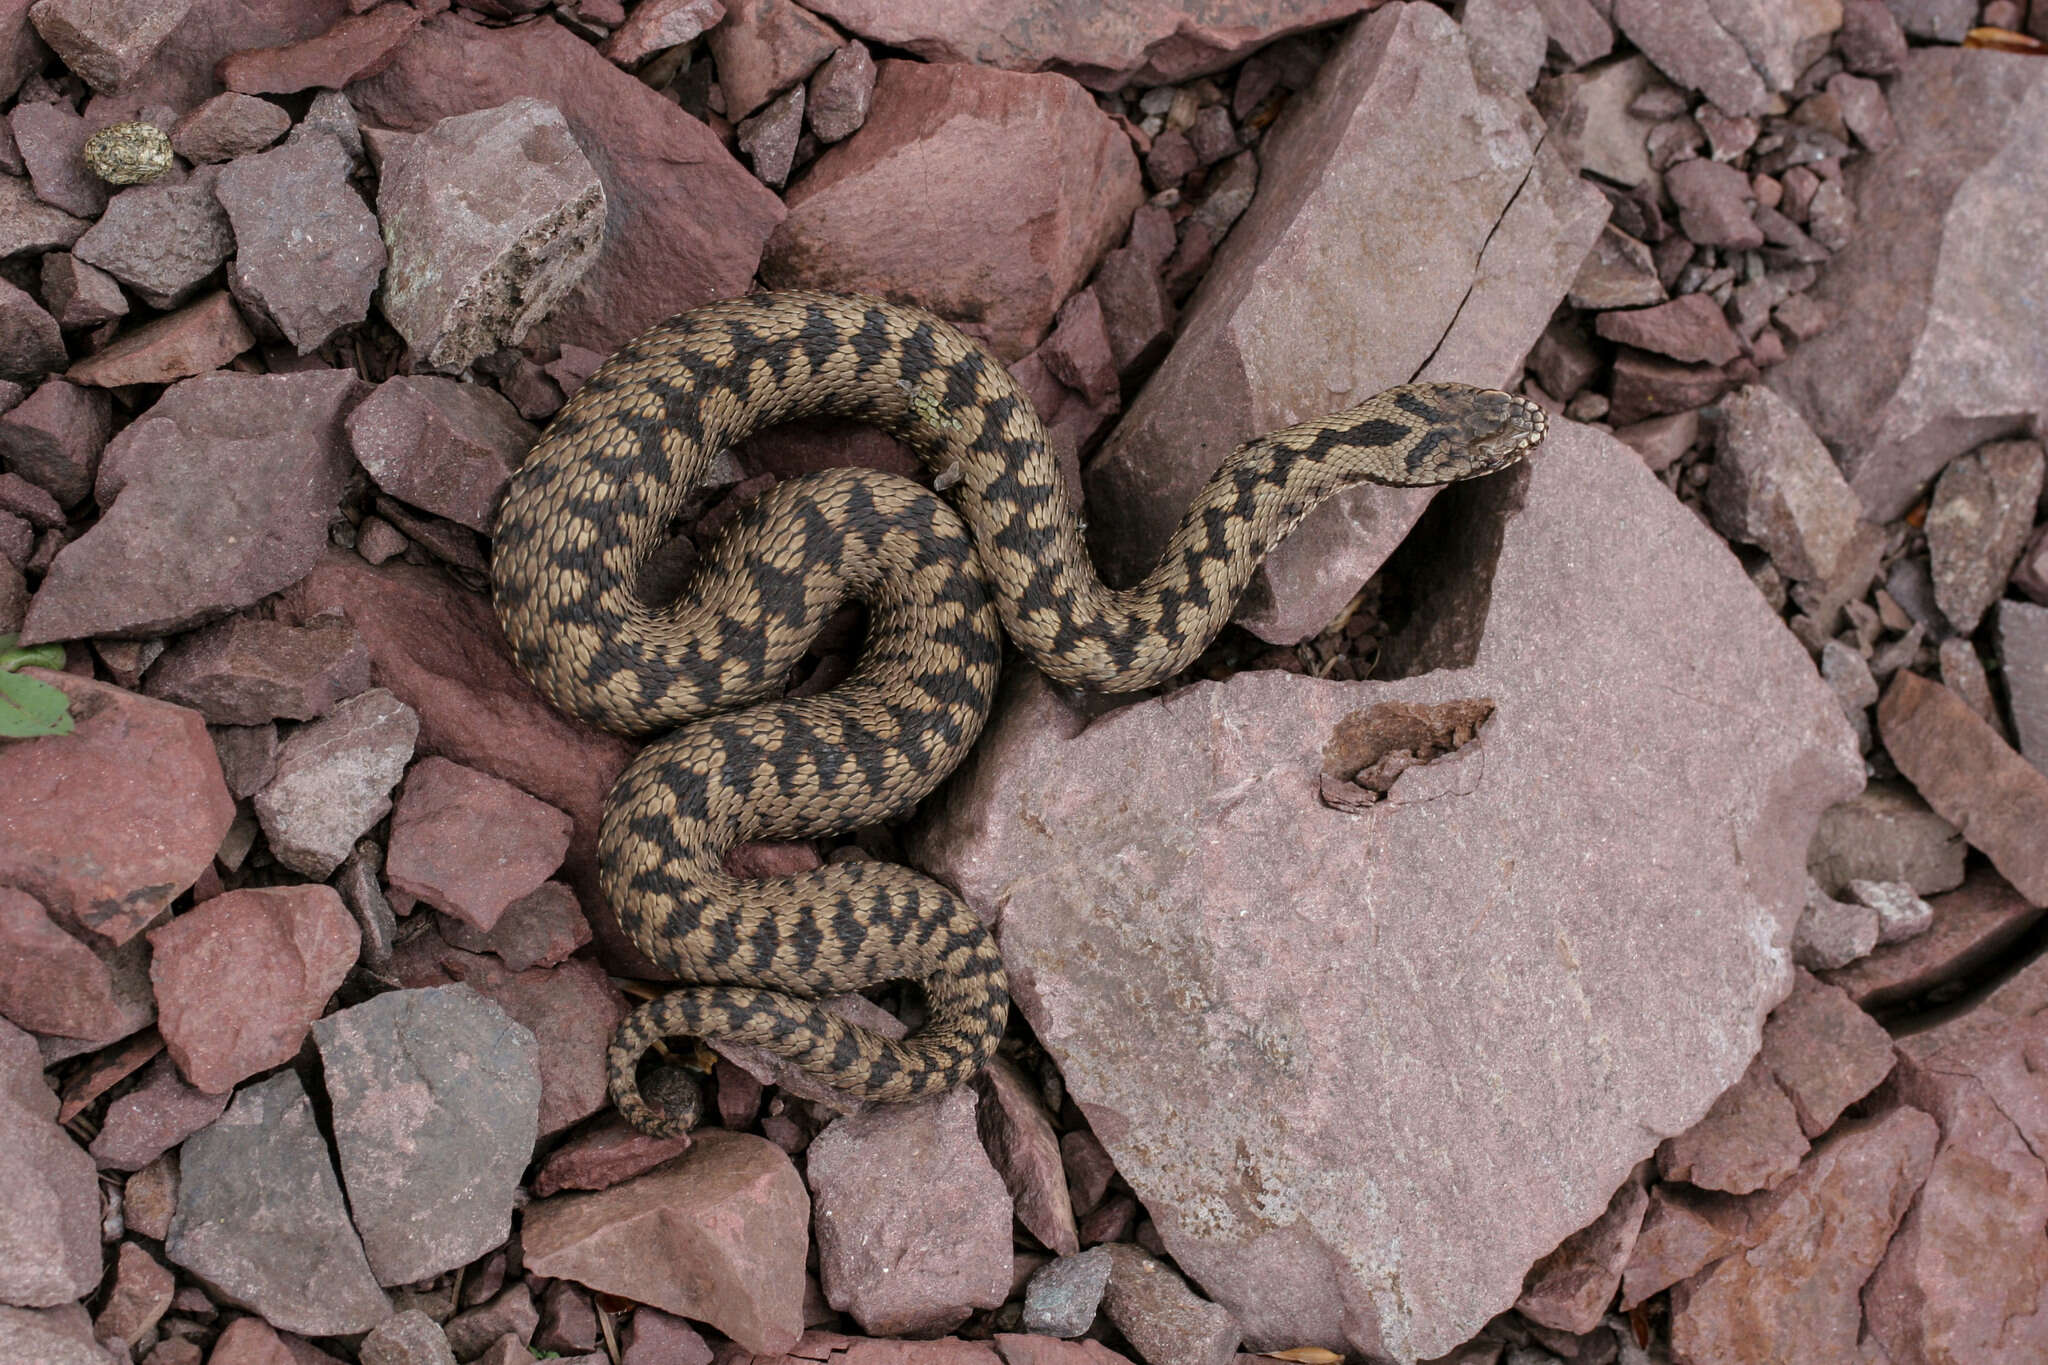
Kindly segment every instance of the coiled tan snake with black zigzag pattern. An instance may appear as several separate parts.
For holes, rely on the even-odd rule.
[[[932,471],[827,469],[743,505],[674,593],[643,591],[713,458],[772,426],[850,417]],[[1253,569],[1354,483],[1438,485],[1520,460],[1544,438],[1528,399],[1411,383],[1237,446],[1157,567],[1110,587],[1069,479],[1016,379],[905,303],[758,293],[680,313],[573,393],[506,487],[492,598],[518,667],[559,710],[649,739],[606,796],[598,888],[676,988],[631,1009],[606,1081],[635,1128],[700,1117],[694,1085],[641,1087],[662,1040],[750,1044],[850,1101],[909,1101],[973,1076],[1010,997],[981,917],[924,872],[825,862],[735,876],[754,839],[815,839],[909,812],[967,755],[995,698],[1004,639],[1049,679],[1102,692],[1186,669]],[[788,694],[844,604],[864,647],[838,686]],[[827,999],[924,993],[905,1038]]]

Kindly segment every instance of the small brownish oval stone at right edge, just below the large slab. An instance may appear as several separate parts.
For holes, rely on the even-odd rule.
[[[1927,508],[1933,600],[1958,634],[1972,634],[2005,591],[2034,530],[2042,467],[2038,442],[2001,440],[1958,458],[1935,481]]]

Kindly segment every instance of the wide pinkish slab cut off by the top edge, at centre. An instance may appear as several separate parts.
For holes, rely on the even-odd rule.
[[[1061,70],[1098,90],[1167,86],[1221,72],[1255,47],[1337,23],[1374,0],[1141,0],[1067,4],[948,4],[948,0],[817,0],[809,8],[872,43],[926,61],[971,61],[1014,72]]]

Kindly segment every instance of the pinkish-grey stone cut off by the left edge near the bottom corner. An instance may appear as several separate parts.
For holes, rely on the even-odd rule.
[[[55,1119],[35,1038],[0,1019],[0,1179],[10,1191],[0,1201],[0,1246],[8,1248],[0,1302],[23,1308],[70,1304],[100,1283],[98,1179]]]

